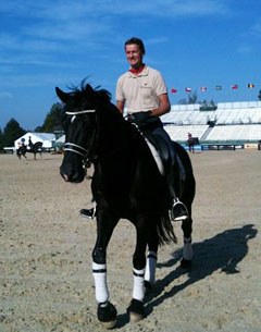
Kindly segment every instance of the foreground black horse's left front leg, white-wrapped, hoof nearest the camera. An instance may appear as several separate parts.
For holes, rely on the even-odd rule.
[[[116,324],[117,311],[109,302],[110,294],[107,283],[107,247],[119,219],[97,213],[97,241],[92,251],[92,275],[95,279],[97,316],[108,329]]]

